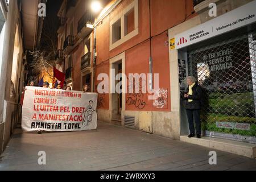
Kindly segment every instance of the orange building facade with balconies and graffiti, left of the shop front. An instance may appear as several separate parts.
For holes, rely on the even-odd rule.
[[[160,98],[149,100],[150,94],[141,92],[99,93],[98,119],[175,138],[168,29],[193,17],[193,1],[105,1],[99,14],[88,9],[89,2],[64,1],[58,13],[59,56],[63,59],[57,67],[65,72],[67,85],[82,90],[89,84],[90,92],[97,92],[101,73],[109,76],[109,90],[120,81],[112,81],[118,73],[126,79],[129,74],[152,73],[154,77],[157,73]]]

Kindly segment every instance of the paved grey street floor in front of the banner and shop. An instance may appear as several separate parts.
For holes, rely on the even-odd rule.
[[[19,131],[21,133],[21,131]],[[17,133],[17,131],[16,131]],[[46,165],[38,152],[46,152]],[[0,160],[3,170],[255,170],[256,160],[98,122],[97,130],[14,134]]]

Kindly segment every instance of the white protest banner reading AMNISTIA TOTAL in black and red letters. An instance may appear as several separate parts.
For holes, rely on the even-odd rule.
[[[97,128],[97,93],[27,86],[22,107],[24,131],[81,131]]]

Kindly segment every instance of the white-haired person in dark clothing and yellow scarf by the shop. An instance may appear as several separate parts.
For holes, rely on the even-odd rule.
[[[185,98],[185,110],[187,113],[189,131],[189,138],[195,137],[195,127],[194,120],[196,123],[196,138],[201,138],[201,119],[200,119],[200,109],[201,109],[201,97],[203,90],[201,86],[196,83],[196,78],[189,76],[187,77],[187,93],[184,94]]]

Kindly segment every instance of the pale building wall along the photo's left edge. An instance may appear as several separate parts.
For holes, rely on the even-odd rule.
[[[3,10],[3,9],[1,9]],[[0,153],[9,142],[10,135],[14,130],[20,114],[19,94],[22,88],[23,65],[23,43],[21,34],[21,20],[17,1],[10,1],[5,26],[0,34]],[[15,32],[18,26],[18,52],[14,57]],[[5,32],[5,34],[3,33]],[[17,40],[17,39],[16,39]],[[16,51],[17,52],[17,51]],[[12,75],[13,60],[16,60],[16,69]],[[11,78],[15,78],[15,94],[10,97]],[[20,81],[19,81],[20,79]]]

